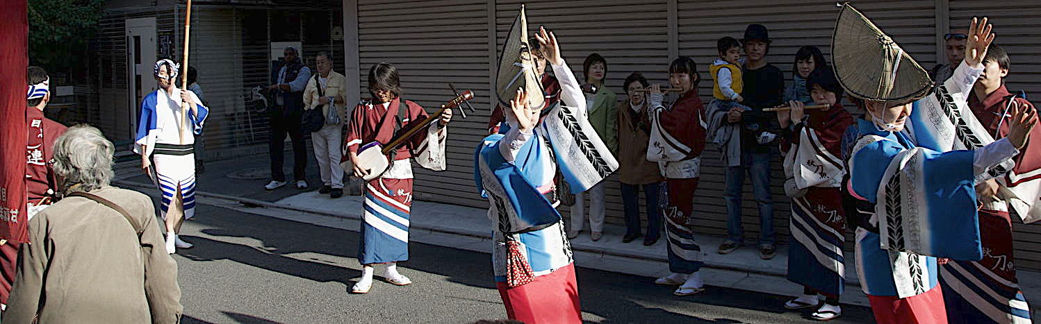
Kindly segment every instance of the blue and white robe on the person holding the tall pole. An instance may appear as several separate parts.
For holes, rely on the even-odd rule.
[[[202,134],[203,123],[209,114],[209,108],[202,105],[194,92],[188,91],[196,103],[198,115],[186,109],[191,123],[187,130],[192,132],[181,136],[178,129],[181,126],[180,89],[172,86],[174,96],[163,89],[145,97],[141,103],[141,118],[137,122],[137,136],[133,152],[152,159],[152,183],[162,191],[162,217],[167,217],[171,201],[179,190],[183,198],[184,219],[195,216],[195,136]]]

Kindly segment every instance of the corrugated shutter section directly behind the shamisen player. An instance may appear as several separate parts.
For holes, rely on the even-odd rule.
[[[453,98],[448,83],[473,89],[479,111],[463,119],[458,111],[449,127],[448,170],[413,167],[415,197],[485,207],[474,187],[473,155],[489,114],[487,1],[358,1],[358,42],[362,98],[369,98],[369,69],[395,64],[402,95],[433,112]]]

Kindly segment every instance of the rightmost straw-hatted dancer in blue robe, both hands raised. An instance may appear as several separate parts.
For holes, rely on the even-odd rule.
[[[987,19],[972,21],[965,60],[936,85],[848,4],[836,24],[836,77],[865,100],[870,118],[859,120],[848,186],[868,219],[857,228],[857,268],[880,323],[947,322],[937,258],[982,259],[973,186],[1007,169],[1037,123],[1036,112],[1013,109],[1008,136],[987,143],[965,118],[991,29]]]

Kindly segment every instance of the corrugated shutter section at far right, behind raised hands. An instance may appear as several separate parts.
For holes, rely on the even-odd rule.
[[[951,0],[949,26],[968,28],[972,17],[989,17],[997,36],[994,43],[1009,53],[1011,71],[1006,78],[1009,90],[1025,90],[1035,106],[1041,104],[1041,37],[1038,36],[1037,18],[1041,17],[1041,3],[1018,2],[998,5],[984,0]],[[945,33],[945,31],[941,31]],[[1041,223],[1023,224],[1013,221],[1015,231],[1016,267],[1041,269]]]

